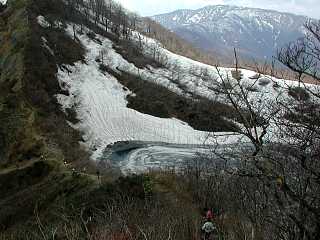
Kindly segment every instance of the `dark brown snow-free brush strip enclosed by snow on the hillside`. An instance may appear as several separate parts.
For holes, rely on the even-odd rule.
[[[142,80],[139,76],[117,73],[107,66],[103,68],[118,81],[135,93],[129,95],[128,107],[160,118],[177,118],[201,131],[233,131],[235,124],[227,119],[236,119],[232,107],[219,102],[211,102],[178,95],[166,87]]]

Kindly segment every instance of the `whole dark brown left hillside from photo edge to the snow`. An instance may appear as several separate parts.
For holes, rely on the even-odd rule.
[[[45,31],[39,26],[37,12],[43,5],[45,1],[37,5],[9,1],[0,15],[0,133],[4,146],[0,165],[34,161],[41,156],[79,159],[68,148],[81,151],[80,135],[65,121],[55,94],[61,92],[57,64],[80,60],[82,48],[63,32]],[[45,11],[57,14],[61,11],[57,6]],[[53,56],[47,45],[57,38],[60,41],[52,50],[56,53]]]

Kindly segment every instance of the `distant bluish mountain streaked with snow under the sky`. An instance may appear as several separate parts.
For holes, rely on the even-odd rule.
[[[307,17],[272,10],[216,5],[152,17],[197,47],[230,56],[271,59],[276,49],[303,36]]]

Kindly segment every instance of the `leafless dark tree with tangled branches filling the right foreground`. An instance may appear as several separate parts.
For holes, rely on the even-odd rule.
[[[212,162],[224,161],[223,175],[238,186],[231,203],[245,216],[242,221],[249,221],[252,239],[320,237],[320,99],[318,87],[303,82],[306,76],[319,80],[320,23],[308,22],[306,29],[306,37],[281,49],[278,57],[297,73],[310,98],[290,98],[290,84],[272,101],[252,94],[262,74],[244,80],[237,59],[236,74],[216,68],[216,91],[233,107],[235,131],[249,144],[220,146]],[[224,205],[229,213],[231,206]]]

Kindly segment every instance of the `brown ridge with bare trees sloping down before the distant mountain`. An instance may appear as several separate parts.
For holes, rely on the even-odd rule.
[[[150,18],[140,17],[128,11],[113,0],[67,0],[66,14],[73,21],[82,25],[92,24],[112,33],[117,39],[129,40],[135,34],[139,39],[139,47],[143,48],[143,36],[156,39],[166,49],[207,64],[214,65],[216,59],[210,54],[193,47],[175,33],[165,29]],[[158,46],[159,47],[159,46]]]

